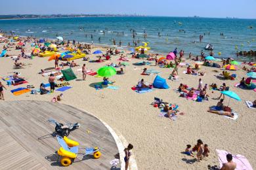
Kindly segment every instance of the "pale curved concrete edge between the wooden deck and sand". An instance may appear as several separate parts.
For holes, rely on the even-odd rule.
[[[67,105],[65,103],[61,103],[61,104],[62,105]],[[74,106],[71,106],[71,105],[68,105],[68,106],[74,107]],[[76,108],[76,107],[74,107],[74,108]],[[83,110],[81,108],[76,108],[76,109]],[[114,129],[112,129],[112,127],[110,127],[106,122],[104,122],[103,120],[101,120],[100,118],[95,116],[94,114],[91,114],[91,112],[88,112],[86,110],[83,110],[83,112],[87,112],[91,116],[94,116],[96,119],[100,120],[100,122],[102,122],[102,124],[104,124],[104,126],[106,126],[108,131],[110,131],[112,137],[114,137],[114,140],[116,141],[116,145],[117,145],[117,148],[118,148],[121,170],[124,170],[125,169],[125,161],[124,161],[125,152],[123,152],[123,150],[125,149],[125,146],[127,146],[129,144],[129,143],[127,143],[125,137],[123,137],[123,135],[117,135],[116,132],[114,131]],[[131,158],[129,160],[129,170],[138,170],[137,162],[135,160],[135,154],[132,154]]]

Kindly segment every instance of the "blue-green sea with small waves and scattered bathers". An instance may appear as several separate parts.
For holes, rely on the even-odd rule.
[[[253,26],[252,29],[249,26]],[[113,45],[122,42],[133,45],[135,41],[149,42],[154,52],[165,54],[184,50],[200,55],[205,44],[213,44],[215,56],[236,58],[236,51],[256,51],[256,20],[228,18],[182,17],[95,17],[95,18],[42,18],[24,20],[0,20],[0,29],[14,31],[16,35],[55,39],[65,37],[71,41]],[[184,31],[183,31],[184,30]],[[104,35],[105,33],[105,35]],[[147,34],[144,39],[144,33]],[[160,36],[158,35],[160,33]],[[204,35],[205,33],[205,35]],[[221,33],[224,35],[221,36]],[[93,35],[93,39],[91,39]],[[199,36],[203,35],[202,42]],[[100,40],[99,40],[100,37]],[[208,54],[206,50],[205,54]],[[218,53],[221,52],[221,56]]]

